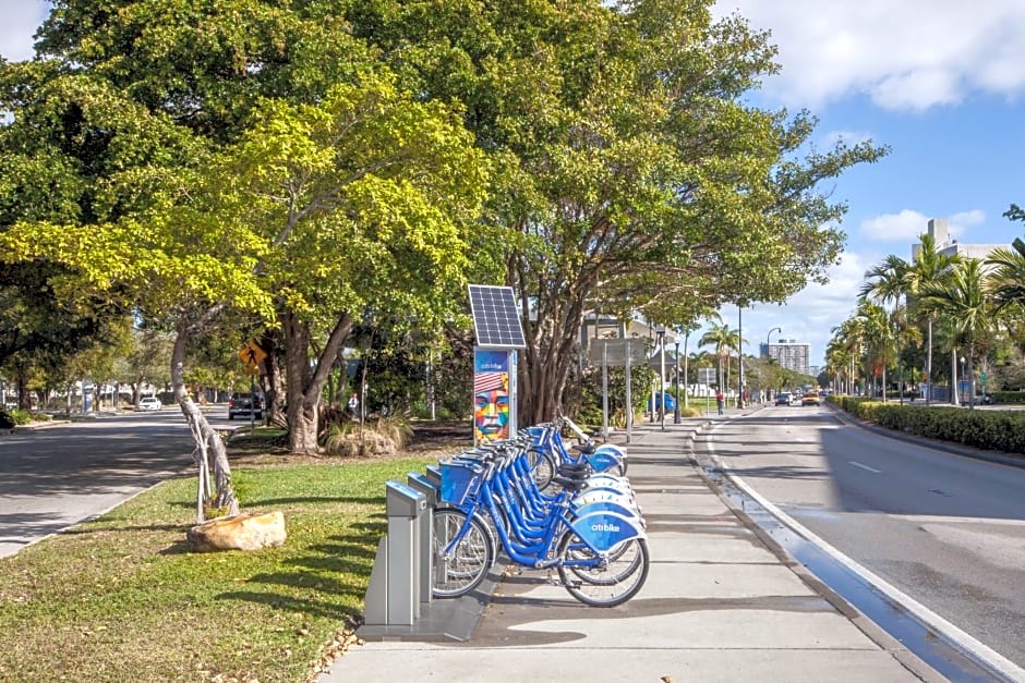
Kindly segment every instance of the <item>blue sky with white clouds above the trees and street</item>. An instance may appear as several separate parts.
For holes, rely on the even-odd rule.
[[[0,54],[31,58],[48,9],[44,0],[0,0]],[[823,364],[865,271],[890,254],[911,259],[930,218],[945,218],[962,243],[1025,235],[1025,224],[1002,216],[1012,203],[1025,206],[1025,2],[719,0],[714,11],[770,32],[779,48],[781,73],[763,81],[753,103],[810,111],[818,149],[837,138],[891,148],[820,187],[848,207],[829,284],[810,284],[784,305],[721,312],[740,327],[746,354],[770,339],[795,340],[811,345],[812,365]]]

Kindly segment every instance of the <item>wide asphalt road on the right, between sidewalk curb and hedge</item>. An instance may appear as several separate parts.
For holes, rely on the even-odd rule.
[[[714,431],[720,460],[847,557],[1025,666],[1025,469],[769,407]]]

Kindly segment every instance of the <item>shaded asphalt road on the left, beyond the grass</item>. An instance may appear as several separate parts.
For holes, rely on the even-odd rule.
[[[224,407],[210,413],[218,427],[238,424],[226,418]],[[0,432],[0,557],[185,471],[192,450],[184,417],[170,406]]]

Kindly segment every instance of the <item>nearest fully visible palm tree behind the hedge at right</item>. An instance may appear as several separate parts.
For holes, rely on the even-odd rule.
[[[984,349],[993,331],[993,310],[984,289],[982,261],[968,258],[950,273],[948,282],[924,285],[920,294],[926,305],[944,314],[960,341],[968,351],[968,404],[975,406],[975,354]],[[956,361],[954,362],[956,365]]]

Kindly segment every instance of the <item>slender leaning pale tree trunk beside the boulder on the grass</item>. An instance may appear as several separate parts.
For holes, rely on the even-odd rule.
[[[198,493],[196,496],[196,523],[206,521],[208,511],[216,511],[219,515],[232,516],[239,514],[239,501],[231,487],[231,466],[228,463],[228,452],[220,436],[210,427],[206,416],[192,401],[185,389],[185,350],[192,331],[196,326],[212,319],[219,307],[207,310],[200,322],[190,325],[184,316],[179,320],[174,346],[171,352],[171,388],[174,399],[181,407],[182,415],[192,431],[195,441],[193,458],[200,473]],[[208,468],[213,466],[213,477]],[[213,487],[210,486],[213,484]]]

